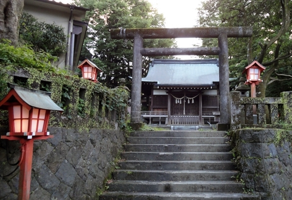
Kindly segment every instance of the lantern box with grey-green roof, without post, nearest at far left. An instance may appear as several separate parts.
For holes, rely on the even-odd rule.
[[[9,85],[12,89],[0,101],[0,108],[8,109],[7,136],[48,135],[46,132],[50,110],[63,111],[49,97],[50,92]]]

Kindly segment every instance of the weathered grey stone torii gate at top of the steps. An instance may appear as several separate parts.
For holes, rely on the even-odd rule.
[[[220,124],[226,130],[230,124],[228,37],[250,37],[252,27],[195,28],[120,28],[111,29],[112,39],[134,39],[131,88],[131,123],[141,123],[142,56],[157,55],[219,55]],[[218,47],[143,48],[143,39],[179,37],[218,38]]]

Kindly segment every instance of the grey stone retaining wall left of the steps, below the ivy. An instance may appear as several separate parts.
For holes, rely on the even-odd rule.
[[[53,128],[47,140],[35,140],[33,146],[30,200],[94,199],[97,188],[113,166],[122,149],[125,135],[120,130]],[[0,140],[0,174],[11,172],[15,166],[6,161],[5,141]],[[19,156],[19,144],[9,141],[12,162]],[[10,155],[10,154],[9,154]],[[14,157],[14,158],[13,158]],[[0,178],[0,199],[17,199],[18,172]]]

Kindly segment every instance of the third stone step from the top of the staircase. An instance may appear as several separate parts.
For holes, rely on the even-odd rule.
[[[229,144],[125,144],[125,151],[228,152]]]

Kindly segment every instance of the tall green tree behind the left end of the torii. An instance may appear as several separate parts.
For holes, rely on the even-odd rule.
[[[117,85],[120,78],[131,76],[133,41],[111,39],[112,28],[163,27],[164,18],[146,0],[76,0],[77,5],[87,7],[86,21],[89,23],[83,56],[92,58],[103,70],[101,82]],[[145,39],[144,47],[175,46],[173,39]],[[93,53],[92,57],[90,50]],[[150,57],[143,59],[143,72]]]

